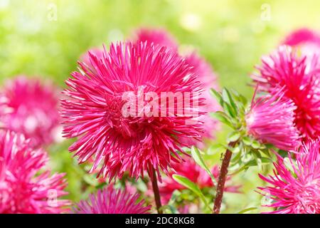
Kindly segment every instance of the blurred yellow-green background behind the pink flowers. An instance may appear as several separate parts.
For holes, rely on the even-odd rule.
[[[320,29],[319,9],[320,1],[311,0],[0,0],[0,83],[23,74],[50,78],[63,88],[88,48],[108,46],[147,26],[166,28],[182,47],[196,48],[213,66],[221,88],[251,98],[247,84],[260,57],[296,28]],[[226,132],[217,141],[223,142]],[[67,172],[69,198],[78,202],[99,183],[86,174],[87,167],[77,165],[70,144],[48,148],[50,165]],[[220,162],[219,156],[208,156],[208,164]],[[244,194],[227,193],[223,212],[260,207],[257,170],[237,175],[235,182]]]

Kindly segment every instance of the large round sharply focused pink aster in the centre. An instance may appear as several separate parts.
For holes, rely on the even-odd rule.
[[[161,104],[159,98],[161,92],[196,98],[201,93],[197,76],[177,53],[148,43],[112,44],[104,58],[89,56],[95,70],[80,63],[81,71],[66,81],[63,133],[67,138],[79,137],[69,150],[79,162],[92,157],[90,172],[99,169],[98,175],[110,179],[121,178],[126,171],[130,177],[143,176],[145,171],[151,175],[153,169],[158,175],[159,170],[168,172],[172,160],[181,160],[178,152],[186,146],[178,139],[201,139],[202,123],[194,120],[201,112],[185,114],[196,113],[203,98],[198,105],[191,99],[191,105],[182,108],[177,108],[182,102],[178,98],[174,108]],[[147,111],[149,95],[153,113]],[[133,107],[124,113],[128,103]],[[176,115],[177,110],[183,115]]]

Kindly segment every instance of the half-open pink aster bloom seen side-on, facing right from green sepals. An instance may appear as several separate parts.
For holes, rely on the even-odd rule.
[[[284,97],[281,89],[257,100],[253,98],[250,111],[245,116],[247,133],[261,142],[292,151],[299,145],[294,110],[296,106]]]

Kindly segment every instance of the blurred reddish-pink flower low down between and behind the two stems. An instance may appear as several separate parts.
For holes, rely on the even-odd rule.
[[[173,178],[172,175],[178,174],[183,177],[187,177],[192,182],[196,183],[196,185],[200,188],[206,188],[206,187],[214,187],[210,176],[206,172],[206,170],[203,170],[203,168],[199,167],[196,162],[191,157],[185,157],[185,162],[183,163],[173,163],[172,165],[172,171],[169,172],[167,177],[163,178],[163,182],[159,183],[159,192],[161,195],[161,200],[163,204],[166,204],[169,202],[169,199],[171,198],[172,193],[174,190],[185,190],[186,187],[183,185],[178,184]],[[212,167],[211,172],[213,174],[213,177],[215,177],[216,180],[218,180],[219,176],[219,167],[218,165],[215,165]],[[239,193],[239,185],[232,185],[231,183],[231,176],[227,177],[227,183],[225,185],[225,192],[234,192]]]

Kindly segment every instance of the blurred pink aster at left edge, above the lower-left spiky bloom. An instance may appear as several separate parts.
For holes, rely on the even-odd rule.
[[[58,90],[52,84],[24,76],[8,81],[1,93],[0,123],[7,130],[23,133],[33,146],[48,145],[59,127]]]

